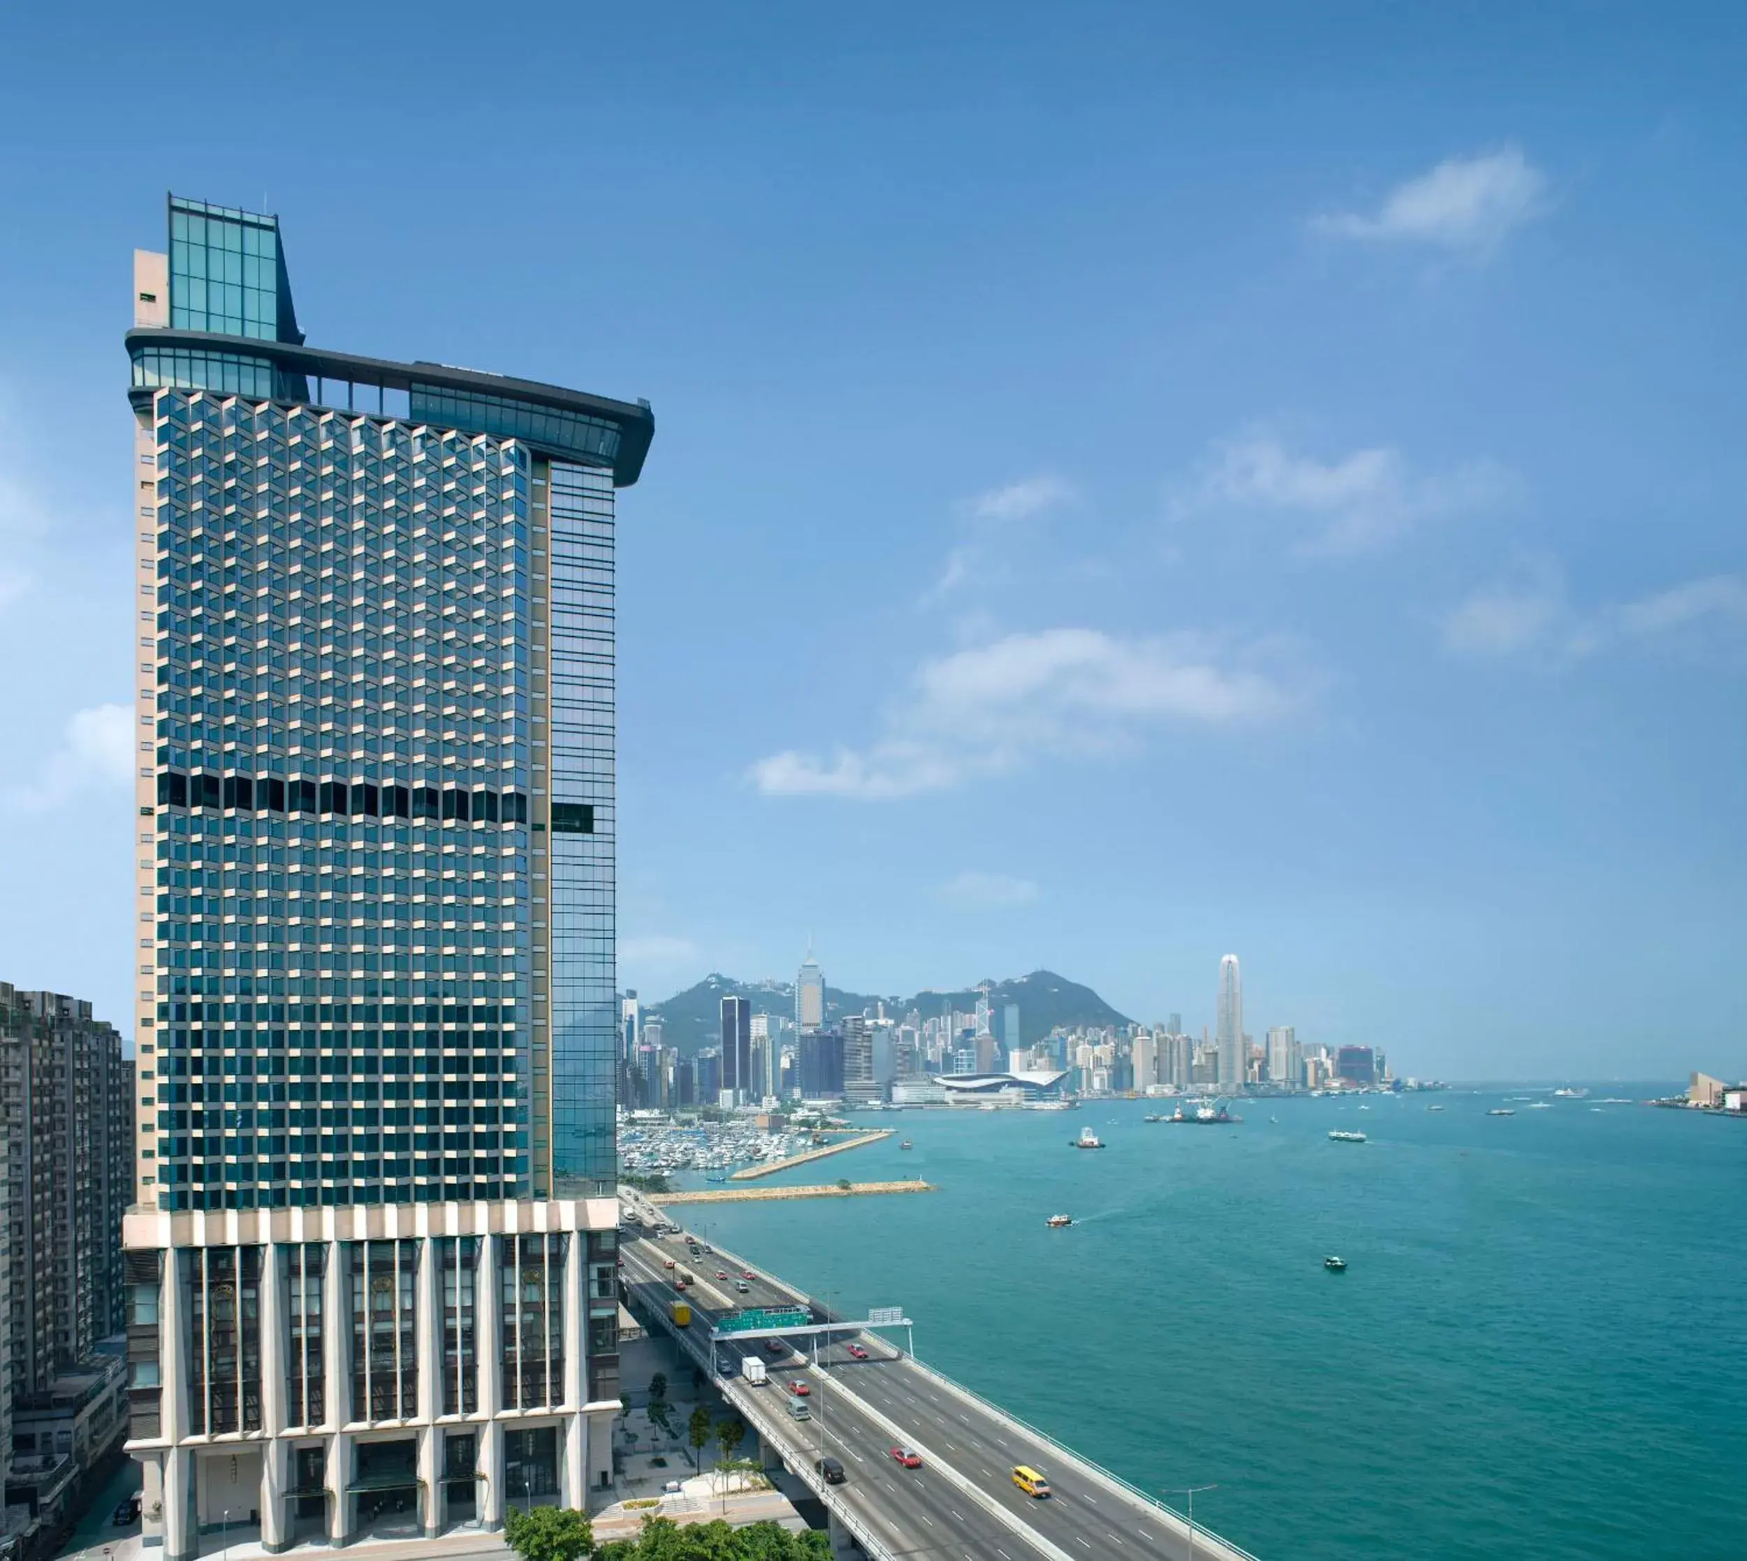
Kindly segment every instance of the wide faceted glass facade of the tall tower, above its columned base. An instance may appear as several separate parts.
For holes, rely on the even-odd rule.
[[[528,1196],[529,454],[152,428],[157,1203]]]

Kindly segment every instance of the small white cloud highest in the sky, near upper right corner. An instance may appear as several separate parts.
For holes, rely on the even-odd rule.
[[[1487,255],[1546,210],[1546,175],[1518,147],[1448,157],[1396,185],[1371,215],[1338,212],[1321,232],[1371,243],[1420,243]]]

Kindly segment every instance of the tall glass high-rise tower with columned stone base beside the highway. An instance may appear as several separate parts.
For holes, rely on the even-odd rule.
[[[613,489],[653,418],[306,346],[278,222],[176,198],[128,353],[145,1542],[582,1505],[618,1411]]]

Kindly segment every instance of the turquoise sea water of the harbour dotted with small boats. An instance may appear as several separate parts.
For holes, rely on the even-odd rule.
[[[938,1192],[688,1224],[905,1306],[924,1360],[1139,1486],[1218,1482],[1197,1517],[1263,1561],[1742,1558],[1747,1122],[1595,1110],[1667,1089],[1249,1101],[1235,1127],[905,1112],[880,1126],[914,1150],[772,1182]],[[1081,1126],[1108,1147],[1069,1148]]]

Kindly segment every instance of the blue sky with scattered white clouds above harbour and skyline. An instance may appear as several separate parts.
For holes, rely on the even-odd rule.
[[[1747,10],[0,14],[0,979],[129,1028],[131,250],[646,397],[620,981],[1747,1075]]]

